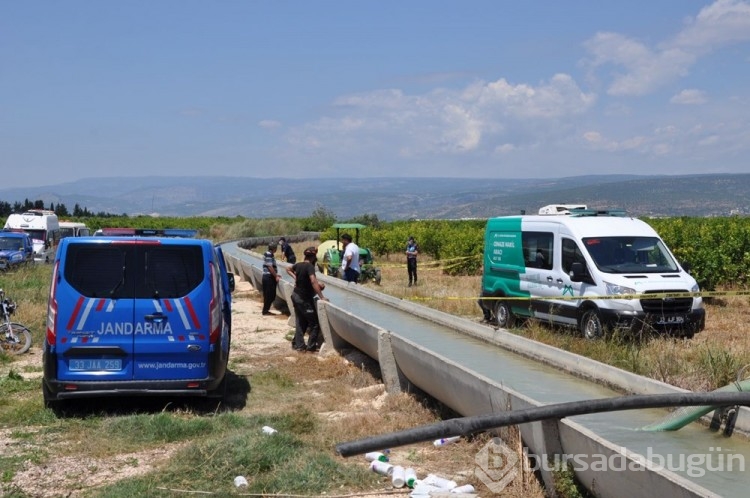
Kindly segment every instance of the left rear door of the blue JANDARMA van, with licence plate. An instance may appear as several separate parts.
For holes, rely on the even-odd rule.
[[[58,380],[132,379],[134,245],[65,243],[61,258],[64,272],[55,291]]]

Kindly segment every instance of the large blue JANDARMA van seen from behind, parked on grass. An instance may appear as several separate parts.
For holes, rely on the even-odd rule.
[[[47,312],[43,395],[223,396],[234,278],[204,239],[68,237]]]

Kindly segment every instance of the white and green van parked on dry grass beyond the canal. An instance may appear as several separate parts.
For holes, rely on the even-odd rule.
[[[705,327],[695,279],[653,228],[622,211],[491,218],[483,263],[479,304],[502,328],[534,318],[594,339]]]

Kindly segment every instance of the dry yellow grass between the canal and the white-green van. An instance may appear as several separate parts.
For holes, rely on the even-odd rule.
[[[381,292],[413,300],[453,315],[480,321],[481,277],[444,275],[436,262],[421,258],[419,285],[408,287],[405,258],[378,260]],[[750,364],[750,298],[706,300],[706,329],[692,339],[610,337],[587,341],[576,331],[531,323],[514,333],[692,391],[708,391],[735,380]]]

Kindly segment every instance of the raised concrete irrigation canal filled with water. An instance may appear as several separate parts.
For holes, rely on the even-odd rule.
[[[240,245],[244,244],[222,246],[230,271],[259,288],[262,260]],[[389,392],[417,387],[464,417],[486,419],[508,410],[532,413],[555,404],[575,408],[588,400],[623,395],[688,393],[502,329],[494,330],[361,285],[320,278],[327,285],[330,299],[319,303],[321,327],[330,346],[336,350],[355,347],[377,360]],[[290,303],[291,292],[291,282],[283,281],[278,299]],[[737,389],[719,394],[732,391],[736,399],[744,397],[735,404],[746,404],[747,395],[737,393]],[[731,394],[724,402],[730,398]],[[697,418],[708,412],[706,419],[713,412],[696,410],[681,413]],[[577,479],[596,496],[747,496],[749,413],[744,407],[737,410],[732,436],[725,435],[724,427],[717,430],[686,421],[681,422],[684,427],[679,430],[644,430],[661,427],[669,415],[664,408],[546,418],[522,423],[519,429],[530,453],[548,461],[569,459]],[[457,430],[456,425],[432,430],[447,435],[450,429],[446,427]],[[435,434],[430,428],[422,429],[427,432],[421,434],[421,440]],[[346,444],[342,448],[356,450],[356,446]],[[554,479],[553,469],[542,466],[541,470],[549,485]],[[494,479],[489,471],[485,477]],[[492,482],[483,481],[492,489]]]

